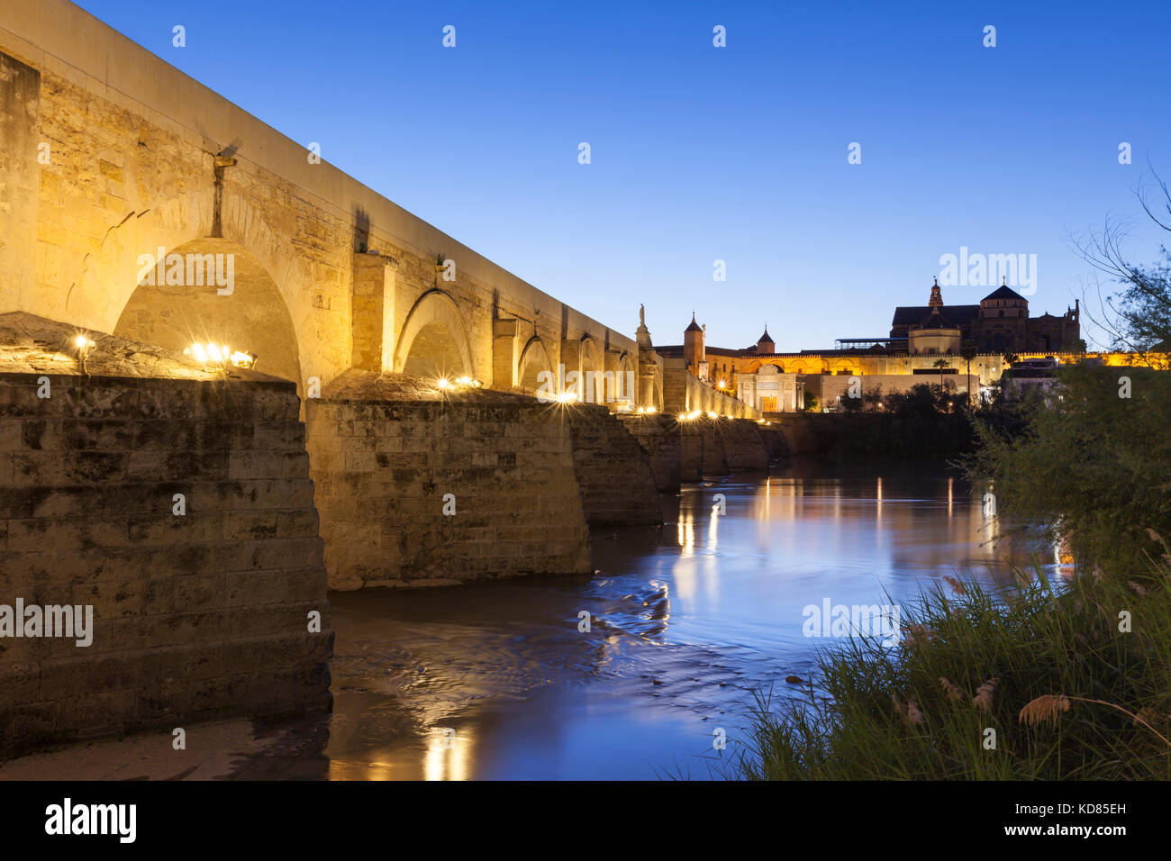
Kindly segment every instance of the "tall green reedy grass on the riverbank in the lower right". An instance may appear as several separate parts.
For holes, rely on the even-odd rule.
[[[759,699],[730,777],[1171,779],[1169,561],[1061,594],[1039,573],[922,593],[899,645],[849,638],[820,655],[822,692]]]

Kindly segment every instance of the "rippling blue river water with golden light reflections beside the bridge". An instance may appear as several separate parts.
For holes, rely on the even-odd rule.
[[[831,642],[803,636],[807,604],[1012,582],[1030,555],[989,544],[981,500],[947,477],[740,476],[667,498],[660,529],[595,534],[594,578],[334,594],[328,777],[707,777],[713,732]]]

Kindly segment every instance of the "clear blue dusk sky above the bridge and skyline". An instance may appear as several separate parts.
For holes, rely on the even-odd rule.
[[[1135,190],[1171,179],[1167,2],[80,5],[587,314],[645,303],[656,343],[692,309],[726,347],[882,336],[961,246],[1036,254],[1062,313],[1094,289],[1070,234],[1162,239]]]

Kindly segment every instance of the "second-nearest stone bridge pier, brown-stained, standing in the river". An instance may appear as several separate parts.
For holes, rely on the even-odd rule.
[[[569,430],[547,405],[350,370],[306,412],[330,587],[589,573]]]

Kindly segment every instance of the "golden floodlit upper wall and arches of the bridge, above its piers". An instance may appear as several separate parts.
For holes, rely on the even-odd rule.
[[[349,368],[530,392],[559,364],[637,370],[630,337],[76,6],[6,4],[0,50],[5,310],[179,350],[227,343],[302,395]],[[231,255],[231,293],[187,272],[206,254]]]

